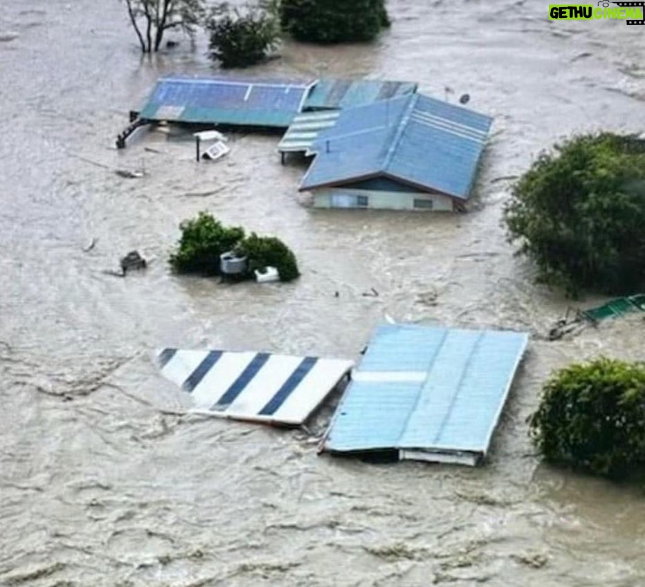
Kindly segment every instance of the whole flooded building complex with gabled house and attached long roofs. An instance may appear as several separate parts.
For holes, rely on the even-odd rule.
[[[283,162],[314,157],[300,185],[314,206],[446,212],[469,200],[492,123],[410,82],[178,76],[158,80],[130,120],[119,148],[159,122],[287,129]]]

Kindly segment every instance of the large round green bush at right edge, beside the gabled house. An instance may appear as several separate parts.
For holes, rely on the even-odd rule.
[[[543,153],[505,209],[544,283],[633,292],[645,279],[645,140],[602,133]]]

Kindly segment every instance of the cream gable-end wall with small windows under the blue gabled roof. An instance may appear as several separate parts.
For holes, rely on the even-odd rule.
[[[427,192],[375,192],[370,189],[324,187],[312,189],[316,208],[370,208],[385,210],[421,210],[423,212],[453,212],[453,200],[442,194]],[[367,205],[358,205],[367,198]],[[428,207],[419,206],[419,201]],[[416,205],[415,205],[416,204]]]

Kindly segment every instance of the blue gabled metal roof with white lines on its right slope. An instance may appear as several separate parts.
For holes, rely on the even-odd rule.
[[[341,111],[312,145],[300,189],[387,176],[467,199],[492,118],[412,94]]]

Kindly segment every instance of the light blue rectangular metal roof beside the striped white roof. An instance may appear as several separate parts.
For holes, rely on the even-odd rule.
[[[322,447],[474,465],[488,450],[528,335],[388,325],[352,374]]]

